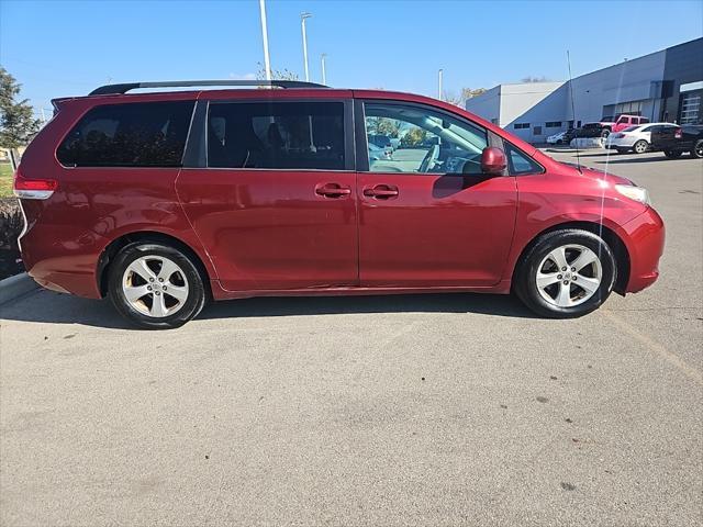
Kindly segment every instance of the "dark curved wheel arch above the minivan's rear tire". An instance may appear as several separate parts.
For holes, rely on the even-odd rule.
[[[118,253],[120,253],[120,250],[135,242],[161,243],[182,251],[194,264],[196,269],[198,269],[198,272],[202,278],[207,294],[212,298],[210,273],[208,272],[208,269],[205,268],[205,265],[200,256],[198,256],[198,253],[183,240],[169,234],[164,234],[156,231],[135,231],[132,233],[126,233],[108,244],[108,246],[101,253],[100,258],[98,259],[98,269],[96,272],[96,277],[98,279],[98,290],[100,291],[100,295],[102,298],[107,296],[108,294],[108,273],[112,260],[118,255]]]

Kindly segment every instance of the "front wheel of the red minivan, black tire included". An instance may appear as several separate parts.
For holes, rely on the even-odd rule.
[[[557,267],[560,258],[554,258],[555,254],[565,257],[567,271]],[[581,261],[595,260],[579,269],[580,257],[583,257]],[[571,270],[572,264],[577,266],[577,272]],[[542,289],[538,271],[545,284]],[[560,229],[540,236],[526,250],[515,270],[513,290],[529,310],[540,316],[574,318],[605,302],[613,291],[616,276],[613,251],[600,236],[588,231]],[[583,288],[585,284],[588,289]]]

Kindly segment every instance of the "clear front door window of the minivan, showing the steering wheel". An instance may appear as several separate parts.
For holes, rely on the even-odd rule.
[[[373,102],[365,111],[370,171],[481,173],[483,128],[420,105]]]

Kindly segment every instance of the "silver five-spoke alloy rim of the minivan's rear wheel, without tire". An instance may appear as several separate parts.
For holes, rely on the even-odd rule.
[[[122,292],[135,311],[163,318],[178,312],[188,299],[183,270],[163,256],[143,256],[127,266]]]

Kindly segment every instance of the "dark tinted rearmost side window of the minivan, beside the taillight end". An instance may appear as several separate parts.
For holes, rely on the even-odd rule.
[[[69,167],[179,167],[193,104],[96,106],[68,133],[56,157]]]

